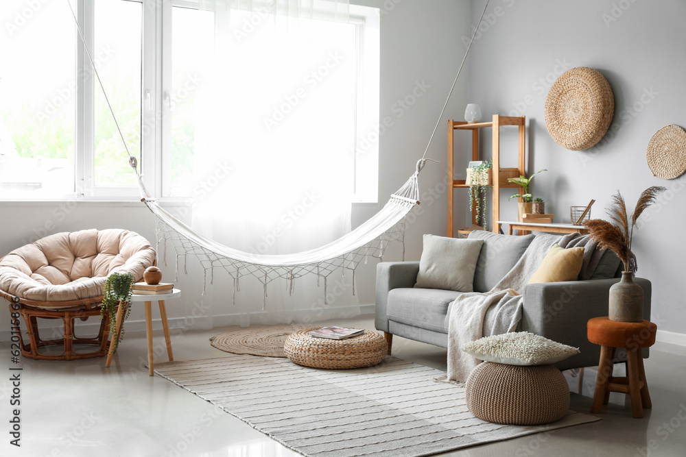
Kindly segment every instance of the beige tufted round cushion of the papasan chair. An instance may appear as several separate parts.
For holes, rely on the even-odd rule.
[[[139,281],[154,262],[150,243],[128,230],[62,232],[0,259],[0,289],[59,308],[49,302],[99,297],[110,273],[129,272]]]

